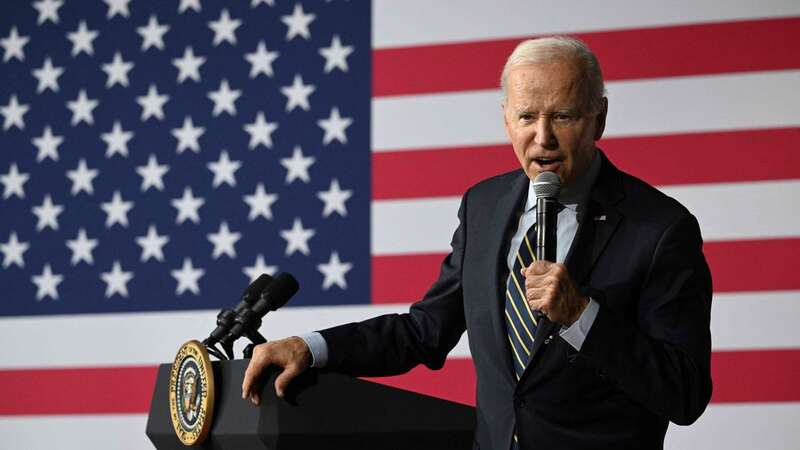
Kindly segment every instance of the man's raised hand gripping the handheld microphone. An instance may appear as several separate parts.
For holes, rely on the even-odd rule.
[[[570,326],[589,305],[569,277],[563,264],[534,261],[520,271],[525,277],[525,297],[532,311],[541,311],[550,321]]]

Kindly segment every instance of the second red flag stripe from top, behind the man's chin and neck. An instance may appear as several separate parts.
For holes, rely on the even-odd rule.
[[[798,142],[800,128],[779,128],[609,138],[599,146],[620,169],[663,186],[800,178]],[[461,195],[480,180],[518,167],[508,144],[375,152],[372,196]]]

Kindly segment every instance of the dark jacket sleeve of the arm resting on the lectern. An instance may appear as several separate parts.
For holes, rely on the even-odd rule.
[[[459,207],[451,253],[424,298],[405,314],[388,314],[320,331],[328,344],[327,368],[355,376],[387,376],[407,372],[418,364],[430,369],[444,365],[447,353],[466,329],[461,268],[467,195]]]

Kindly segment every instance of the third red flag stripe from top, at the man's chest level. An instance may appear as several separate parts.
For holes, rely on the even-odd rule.
[[[703,245],[714,292],[800,289],[800,238],[715,241]],[[439,274],[445,254],[372,257],[373,303],[409,303],[422,298]]]

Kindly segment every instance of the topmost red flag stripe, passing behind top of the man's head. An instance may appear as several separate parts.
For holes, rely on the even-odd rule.
[[[800,18],[678,25],[575,34],[597,54],[606,80],[800,67]],[[506,57],[527,37],[377,49],[373,95],[498,86]]]

